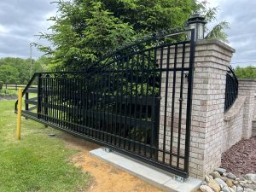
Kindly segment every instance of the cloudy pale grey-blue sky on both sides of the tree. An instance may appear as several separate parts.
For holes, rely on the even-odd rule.
[[[38,38],[52,24],[47,19],[56,14],[53,0],[0,0],[0,57],[30,56],[30,43],[48,44]],[[230,22],[229,45],[236,49],[231,64],[256,66],[256,1],[208,0],[218,6],[217,20]],[[210,24],[211,28],[213,24]],[[44,55],[32,47],[32,57]]]

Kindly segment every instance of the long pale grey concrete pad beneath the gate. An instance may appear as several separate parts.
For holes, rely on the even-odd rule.
[[[117,152],[106,152],[103,148],[97,148],[90,151],[90,154],[107,161],[122,170],[130,172],[136,177],[142,178],[144,181],[154,186],[172,192],[192,192],[199,188],[201,180],[189,177],[185,182],[181,183],[174,179],[174,175],[164,172],[153,166],[149,166],[138,160],[134,160],[124,154]]]

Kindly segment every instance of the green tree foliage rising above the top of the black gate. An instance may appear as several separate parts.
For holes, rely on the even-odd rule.
[[[38,49],[53,56],[52,67],[80,69],[145,35],[180,28],[196,10],[208,21],[215,20],[217,9],[196,0],[59,0],[51,34],[41,33],[51,47]],[[227,37],[223,23],[213,28],[207,38]]]

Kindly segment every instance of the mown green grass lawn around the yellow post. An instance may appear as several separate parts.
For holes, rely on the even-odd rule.
[[[76,151],[49,137],[51,128],[22,119],[15,139],[15,101],[0,102],[0,191],[82,191],[90,176],[68,163]],[[60,131],[54,131],[60,133]]]

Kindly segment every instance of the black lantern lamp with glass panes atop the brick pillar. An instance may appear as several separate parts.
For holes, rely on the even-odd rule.
[[[195,13],[188,20],[189,29],[195,29],[195,41],[205,38],[206,19],[199,13]]]

